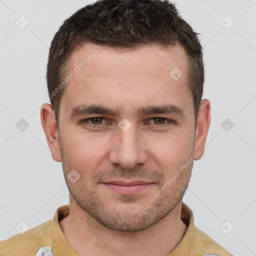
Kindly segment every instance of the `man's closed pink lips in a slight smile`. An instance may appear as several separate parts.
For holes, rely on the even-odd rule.
[[[110,180],[107,182],[102,182],[102,184],[112,191],[125,195],[138,193],[154,183],[144,180],[133,180],[130,182],[124,180]]]

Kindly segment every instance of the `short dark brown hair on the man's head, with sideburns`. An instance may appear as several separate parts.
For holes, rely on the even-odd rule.
[[[86,42],[114,48],[180,43],[189,59],[187,84],[193,95],[196,121],[204,82],[202,47],[197,34],[168,0],[98,0],[80,8],[64,20],[49,49],[46,81],[57,127],[65,87],[57,93],[56,87],[66,75],[70,53]]]

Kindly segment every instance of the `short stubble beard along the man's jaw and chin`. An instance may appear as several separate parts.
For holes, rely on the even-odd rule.
[[[68,180],[67,173],[73,168],[67,161],[68,157],[66,157],[61,145],[60,151],[64,179],[74,202],[88,218],[95,219],[111,230],[122,232],[145,230],[170,214],[185,194],[193,165],[191,164],[190,168],[185,171],[185,174],[181,174],[166,191],[154,200],[154,202],[147,200],[148,203],[146,203],[146,205],[141,205],[139,200],[137,200],[137,195],[123,195],[121,200],[123,207],[118,208],[120,201],[117,201],[116,206],[109,209],[107,208],[107,202],[104,203],[102,199],[100,199],[100,194],[98,194],[96,188],[88,190],[88,188],[82,184],[81,178],[75,183]],[[78,172],[82,173],[82,170],[78,170]],[[160,187],[161,185],[159,189]],[[157,190],[158,189],[155,191]],[[136,205],[134,205],[134,202],[137,202]],[[129,206],[131,203],[132,205]]]

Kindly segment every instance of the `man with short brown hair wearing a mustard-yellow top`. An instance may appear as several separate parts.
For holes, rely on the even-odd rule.
[[[197,34],[160,0],[99,0],[64,21],[41,122],[69,205],[0,242],[0,255],[231,255],[182,197],[210,102]]]

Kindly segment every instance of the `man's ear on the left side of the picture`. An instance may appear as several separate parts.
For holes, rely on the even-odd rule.
[[[41,106],[41,124],[44,130],[52,158],[61,162],[59,136],[54,111],[50,104],[44,103]]]

